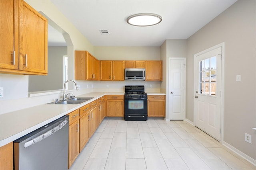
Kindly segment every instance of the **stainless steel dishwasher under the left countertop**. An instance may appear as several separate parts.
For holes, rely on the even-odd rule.
[[[65,115],[14,141],[14,169],[67,170],[68,122]]]

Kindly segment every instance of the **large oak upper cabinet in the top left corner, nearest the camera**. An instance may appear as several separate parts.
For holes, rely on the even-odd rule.
[[[0,72],[47,75],[47,19],[23,0],[1,0],[0,16]]]

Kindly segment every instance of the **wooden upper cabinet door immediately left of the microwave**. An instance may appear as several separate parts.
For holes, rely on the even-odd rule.
[[[113,80],[124,81],[124,61],[113,61]]]

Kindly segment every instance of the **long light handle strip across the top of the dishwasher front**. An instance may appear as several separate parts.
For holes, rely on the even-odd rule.
[[[50,135],[54,134],[56,131],[60,130],[62,127],[64,127],[67,123],[68,123],[68,119],[66,118],[58,126],[56,126],[53,129],[47,131],[46,133],[43,133],[42,135],[39,135],[39,136],[35,137],[34,139],[26,142],[24,144],[24,148],[29,147],[30,145],[33,145],[35,143],[38,143],[38,142],[42,141],[43,139],[46,139],[47,137],[49,137]]]

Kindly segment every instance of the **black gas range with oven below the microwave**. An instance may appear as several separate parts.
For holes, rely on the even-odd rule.
[[[148,95],[144,86],[125,86],[124,119],[148,120]]]

